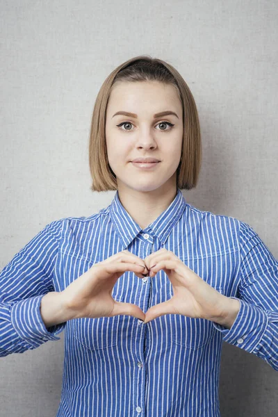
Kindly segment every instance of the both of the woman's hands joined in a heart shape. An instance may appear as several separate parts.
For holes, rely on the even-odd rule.
[[[143,313],[139,306],[113,299],[113,287],[124,272],[132,271],[142,279],[147,275],[154,277],[159,270],[163,270],[172,283],[174,295],[170,300],[152,306]],[[54,296],[57,300],[56,310],[54,300],[50,298]],[[150,254],[144,260],[128,250],[118,252],[93,265],[61,293],[46,295],[41,304],[44,323],[49,326],[72,318],[122,314],[140,318],[145,323],[164,314],[181,314],[231,325],[238,309],[238,300],[218,293],[173,252],[165,249]]]

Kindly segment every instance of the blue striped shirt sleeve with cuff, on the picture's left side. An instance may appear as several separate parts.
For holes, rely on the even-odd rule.
[[[0,273],[0,357],[59,340],[65,323],[45,327],[42,297],[54,290],[62,220],[47,224]]]

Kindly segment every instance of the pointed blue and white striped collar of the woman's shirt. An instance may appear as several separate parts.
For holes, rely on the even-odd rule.
[[[181,190],[178,188],[177,195],[174,197],[170,206],[168,206],[154,222],[150,223],[144,231],[158,236],[161,243],[164,245],[174,225],[178,222],[179,218],[181,218],[185,207],[186,200],[183,197]],[[109,213],[115,230],[126,249],[142,229],[139,224],[131,218],[131,215],[127,213],[124,206],[122,206],[118,191],[115,193],[115,197],[109,206]]]

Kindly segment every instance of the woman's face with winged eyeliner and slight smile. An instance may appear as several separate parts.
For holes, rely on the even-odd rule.
[[[176,115],[154,117],[165,111]],[[115,115],[118,112],[133,115]],[[182,138],[182,105],[172,85],[158,81],[113,85],[106,110],[106,145],[118,190],[176,188]],[[136,158],[156,158],[159,162],[142,167],[132,162]]]

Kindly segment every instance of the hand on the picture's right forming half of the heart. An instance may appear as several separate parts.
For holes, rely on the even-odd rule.
[[[145,313],[145,323],[164,314],[181,314],[213,321],[222,317],[227,297],[190,270],[173,252],[163,248],[147,256],[144,262],[149,277],[163,270],[173,288],[170,300],[152,306]]]

